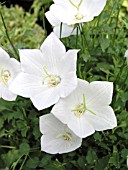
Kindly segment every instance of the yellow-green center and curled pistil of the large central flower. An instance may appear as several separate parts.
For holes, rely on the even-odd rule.
[[[48,87],[56,87],[61,82],[61,78],[59,76],[49,74],[47,72],[46,66],[43,67],[43,70],[44,70],[44,73],[46,74],[46,76],[43,78],[42,84],[44,84],[46,82]]]

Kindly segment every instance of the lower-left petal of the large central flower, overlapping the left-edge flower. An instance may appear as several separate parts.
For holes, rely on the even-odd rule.
[[[34,94],[40,93],[41,87],[43,88],[40,78],[20,73],[10,84],[9,89],[20,96],[31,97]]]

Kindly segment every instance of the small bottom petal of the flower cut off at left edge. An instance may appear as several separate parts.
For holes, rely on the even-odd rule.
[[[2,89],[2,98],[7,101],[15,101],[17,95],[12,93],[8,87],[4,86]]]

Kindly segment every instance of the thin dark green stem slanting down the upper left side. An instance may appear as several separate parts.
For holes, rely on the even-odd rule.
[[[6,24],[5,24],[5,21],[4,21],[4,18],[3,18],[3,15],[2,15],[1,11],[0,11],[0,16],[1,16],[1,19],[2,19],[2,22],[3,22],[3,25],[4,25],[4,29],[5,29],[5,33],[6,33],[6,36],[8,38],[8,41],[10,42],[10,44],[11,44],[11,46],[12,46],[12,48],[13,48],[15,54],[16,54],[16,59],[19,60],[19,55],[18,55],[17,50],[14,47],[14,45],[13,45],[13,43],[12,43],[10,37],[9,37],[8,31],[7,31],[7,27],[6,27]]]

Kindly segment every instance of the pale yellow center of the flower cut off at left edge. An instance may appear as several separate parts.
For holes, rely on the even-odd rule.
[[[5,70],[4,67],[2,67],[0,71],[0,78],[5,85],[7,84],[10,77],[11,77],[10,72],[8,70]]]

